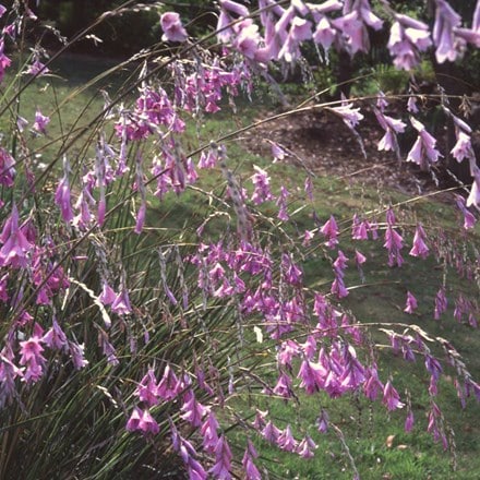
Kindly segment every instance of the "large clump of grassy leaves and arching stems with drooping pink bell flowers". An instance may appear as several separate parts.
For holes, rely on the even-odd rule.
[[[446,94],[431,98],[472,176],[443,214],[429,203],[436,193],[337,204],[332,182],[281,164],[293,151],[269,141],[272,160],[252,159],[241,145],[260,123],[309,111],[339,117],[361,145],[369,108],[379,149],[400,157],[409,122],[407,160],[434,177],[442,154],[413,73],[395,101],[409,118],[394,118],[382,93],[322,92],[272,119],[240,116],[265,85],[281,97],[296,64],[307,75],[310,41],[319,68],[329,49],[368,52],[369,32],[387,27],[397,69],[413,72],[431,47],[439,63],[460,61],[480,45],[480,7],[465,26],[436,0],[431,35],[386,1],[374,13],[368,0],[220,0],[216,31],[191,38],[194,19],[130,1],[67,39],[37,17],[39,2],[11,3],[0,4],[0,478],[260,479],[276,469],[265,445],[308,459],[328,432],[358,478],[329,415],[345,398],[383,404],[454,458],[440,394],[456,392],[461,407],[480,398],[442,335],[447,317],[478,335],[480,173],[465,115]],[[98,41],[101,22],[145,9],[158,10],[159,43],[67,88],[56,61]],[[363,309],[359,291],[400,308]],[[305,403],[313,420],[293,416]]]

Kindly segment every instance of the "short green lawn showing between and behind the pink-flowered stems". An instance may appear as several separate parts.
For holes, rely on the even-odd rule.
[[[70,62],[58,64],[56,74],[59,77],[45,77],[40,83],[34,83],[24,92],[22,104],[17,107],[16,112],[28,120],[33,119],[36,108],[40,108],[44,115],[52,116],[47,139],[33,140],[38,144],[38,155],[41,155],[36,159],[37,163],[48,164],[50,158],[57,158],[62,143],[49,144],[50,139],[63,136],[64,141],[68,141],[75,132],[76,127],[88,123],[103,108],[103,98],[98,94],[97,87],[83,89],[82,86],[100,73],[105,65],[82,59],[75,59],[73,68],[72,64]],[[75,91],[79,87],[81,89]],[[105,87],[108,91],[112,86],[105,85]],[[72,95],[72,92],[76,93]],[[60,105],[63,107],[58,108]],[[225,111],[220,115],[212,118],[204,117],[196,122],[191,122],[184,146],[196,151],[211,140],[228,135],[251,123],[259,113],[257,105],[250,107],[248,103],[241,105],[240,111],[241,115],[233,116],[226,106]],[[13,118],[12,112],[8,121],[12,121]],[[2,121],[7,120],[2,117]],[[3,128],[5,124],[0,124],[0,127]],[[76,151],[79,156],[92,155],[91,151],[84,151],[81,145],[83,142],[79,142]],[[289,190],[295,192],[289,211],[298,209],[298,213],[293,216],[293,227],[285,231],[286,237],[299,237],[305,229],[314,228],[313,212],[315,212],[315,215],[323,221],[331,213],[335,213],[340,226],[345,228],[344,237],[346,238],[349,235],[353,212],[369,212],[379,209],[379,207],[383,211],[387,203],[405,203],[405,217],[400,219],[405,225],[415,225],[415,221],[420,219],[427,228],[444,228],[451,235],[456,235],[457,221],[454,209],[449,205],[436,202],[434,196],[407,203],[409,199],[404,195],[396,192],[382,192],[383,200],[380,204],[379,192],[375,188],[351,187],[337,179],[314,179],[315,201],[307,207],[302,207],[304,202],[301,189],[304,172],[300,175],[298,169],[288,165],[272,165],[271,159],[261,158],[245,151],[241,141],[228,142],[227,146],[229,168],[237,171],[248,188],[248,179],[253,173],[252,166],[259,165],[262,168],[268,168],[273,178],[283,179]],[[75,149],[72,153],[75,154]],[[194,230],[204,221],[205,216],[218,212],[219,203],[215,197],[220,196],[220,192],[225,189],[225,182],[218,181],[218,178],[220,178],[218,171],[215,175],[204,175],[199,185],[190,189],[181,197],[169,194],[163,202],[159,202],[156,197],[149,196],[147,229],[151,229],[152,235],[159,235],[158,232],[161,230],[161,235],[168,231],[168,235],[172,237],[179,238],[182,235],[184,241],[191,240]],[[278,185],[279,180],[275,180],[273,189],[276,190]],[[261,208],[263,220],[259,220],[259,228],[268,232],[272,224],[277,225],[276,212],[274,203],[264,205]],[[379,214],[377,219],[381,220],[383,215],[384,213]],[[235,219],[223,216],[215,217],[208,224],[207,235],[215,238],[228,224],[235,228]],[[408,238],[411,241],[411,237]],[[473,233],[464,239],[459,236],[458,241],[478,245],[478,237]],[[442,336],[451,340],[465,357],[471,372],[473,374],[480,372],[480,359],[477,355],[480,346],[478,331],[455,323],[452,317],[453,302],[441,321],[432,320],[434,296],[445,275],[448,281],[456,283],[447,285],[460,288],[465,292],[475,291],[475,286],[469,285],[468,281],[454,280],[455,276],[433,260],[422,262],[409,259],[401,268],[389,268],[386,266],[386,252],[382,249],[382,241],[356,243],[355,245],[352,242],[345,241],[343,245],[345,253],[350,259],[352,259],[353,248],[359,248],[368,256],[368,263],[364,267],[365,284],[361,283],[352,261],[346,277],[347,285],[357,288],[351,288],[350,295],[343,302],[343,305],[351,310],[359,322],[417,323],[433,336]],[[147,251],[148,244],[141,245],[141,248]],[[141,256],[139,253],[141,251],[136,251],[137,259]],[[407,251],[405,256],[408,256]],[[325,252],[320,245],[310,250],[302,266],[310,287],[322,289],[322,286],[326,287],[333,279],[328,252]],[[420,300],[419,311],[413,316],[403,313],[407,288],[415,291]],[[372,334],[372,338],[375,341],[387,344],[383,335]],[[348,445],[350,455],[362,478],[477,478],[478,471],[480,471],[480,451],[477,442],[480,434],[477,421],[480,413],[479,405],[469,401],[468,408],[463,410],[452,385],[452,372],[446,372],[443,375],[440,383],[442,394],[440,405],[456,432],[454,452],[445,453],[442,446],[433,443],[431,436],[424,432],[427,419],[422,405],[428,403],[424,393],[428,379],[422,361],[419,359],[418,364],[406,364],[393,356],[389,348],[384,348],[381,360],[383,379],[393,374],[396,379],[396,387],[400,393],[404,393],[407,387],[410,391],[417,417],[417,424],[412,433],[404,432],[405,412],[403,410],[388,415],[381,405],[371,405],[361,396],[350,396],[339,400],[332,400],[326,395],[301,396],[298,404],[287,405],[283,400],[255,395],[259,408],[268,409],[277,419],[278,427],[284,428],[287,423],[293,428],[297,423],[307,424],[309,425],[308,432],[319,445],[315,458],[304,460],[296,455],[272,448],[257,439],[256,446],[261,455],[261,463],[271,469],[274,476],[283,479],[351,478],[352,467],[345,448],[345,445]],[[274,372],[267,371],[266,374],[267,379],[275,381]],[[98,393],[96,394],[98,395]],[[86,401],[91,394],[82,391],[79,392],[79,395],[85,396]],[[248,395],[239,393],[231,406],[236,410],[242,411],[247,409],[249,403]],[[59,405],[61,405],[60,401]],[[343,441],[339,441],[334,429],[331,429],[326,434],[316,431],[315,420],[321,408],[328,410],[333,423],[344,432],[345,445],[343,445]],[[67,413],[74,415],[71,411],[67,411]],[[104,428],[108,430],[108,425]],[[95,433],[94,430],[92,432]],[[242,436],[235,430],[230,434],[232,437]],[[43,452],[41,455],[47,455],[45,451],[49,446],[38,445],[38,448],[39,452]],[[43,451],[44,448],[45,451]],[[115,452],[111,455],[115,457]]]

